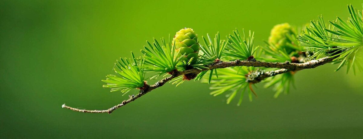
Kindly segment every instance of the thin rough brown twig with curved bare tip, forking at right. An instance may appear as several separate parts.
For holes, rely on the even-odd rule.
[[[115,105],[112,108],[109,108],[107,110],[85,110],[85,109],[78,109],[78,108],[73,108],[73,107],[69,107],[65,104],[62,105],[62,108],[66,108],[66,109],[70,109],[70,110],[74,110],[77,112],[84,112],[84,113],[109,113],[111,114],[115,109],[118,109],[128,103],[130,103],[131,101],[134,101],[136,99],[138,99],[139,97],[147,94],[148,92],[163,86],[166,82],[170,81],[171,79],[181,76],[181,75],[185,75],[185,74],[189,74],[189,73],[193,73],[193,74],[199,74],[201,71],[206,71],[206,70],[211,70],[211,69],[221,69],[221,68],[228,68],[228,67],[233,67],[233,66],[253,66],[253,67],[265,67],[265,68],[280,68],[279,70],[274,70],[274,71],[268,71],[268,72],[260,72],[260,73],[255,73],[255,75],[252,77],[250,76],[247,81],[250,83],[258,83],[261,82],[262,80],[264,80],[265,78],[268,77],[272,77],[278,74],[282,74],[282,73],[286,73],[289,71],[298,71],[298,70],[302,70],[302,69],[311,69],[311,68],[316,68],[317,66],[320,65],[324,65],[327,64],[331,61],[333,61],[334,58],[329,58],[329,57],[324,57],[324,58],[320,58],[318,60],[311,60],[305,63],[290,63],[290,62],[262,62],[262,61],[246,61],[246,60],[235,60],[235,61],[229,61],[229,62],[217,62],[214,63],[212,65],[208,65],[208,69],[203,69],[203,70],[199,70],[199,69],[190,69],[190,70],[185,70],[185,71],[175,71],[170,77],[164,78],[158,82],[156,82],[153,85],[148,85],[145,83],[145,86],[143,88],[140,89],[139,93],[137,95],[132,95],[130,96],[129,99],[122,101],[121,104]]]

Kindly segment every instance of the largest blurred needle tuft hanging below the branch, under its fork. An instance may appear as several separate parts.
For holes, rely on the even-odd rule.
[[[237,94],[239,95],[239,100],[237,105],[240,105],[243,100],[244,92],[247,90],[249,100],[252,101],[252,94],[254,93],[251,84],[246,82],[246,77],[254,70],[253,67],[235,67],[235,68],[224,68],[219,70],[219,77],[216,75],[212,76],[211,87],[209,89],[215,90],[210,94],[213,96],[228,93],[226,95],[227,104],[231,103]],[[209,82],[206,78],[202,82]]]

